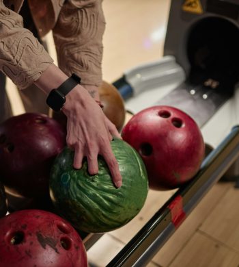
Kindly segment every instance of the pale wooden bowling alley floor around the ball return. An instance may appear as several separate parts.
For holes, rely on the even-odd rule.
[[[109,82],[139,64],[158,60],[169,13],[169,0],[104,0],[103,79]],[[51,41],[51,35],[48,36]],[[55,57],[53,45],[50,53]],[[23,113],[8,81],[14,113]],[[103,267],[175,192],[150,190],[141,212],[128,225],[109,233],[87,252],[90,266]],[[239,266],[239,190],[216,183],[147,266]],[[130,267],[130,266],[129,266]]]

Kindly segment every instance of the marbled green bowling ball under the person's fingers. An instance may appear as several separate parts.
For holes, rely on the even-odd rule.
[[[147,173],[139,154],[123,140],[111,142],[123,185],[115,188],[109,168],[98,157],[98,175],[89,175],[87,161],[81,170],[72,168],[74,152],[66,148],[53,164],[51,199],[61,216],[81,231],[100,233],[122,227],[134,218],[145,203]]]

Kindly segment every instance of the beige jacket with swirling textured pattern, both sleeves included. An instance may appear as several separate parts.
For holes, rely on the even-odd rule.
[[[27,0],[25,0],[27,1]],[[102,80],[102,0],[28,0],[40,36],[51,29],[58,66],[77,73],[82,84],[99,86]],[[18,14],[23,0],[0,0],[0,70],[18,88],[36,81],[53,63]]]

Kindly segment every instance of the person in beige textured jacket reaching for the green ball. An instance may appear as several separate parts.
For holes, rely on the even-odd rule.
[[[0,0],[0,70],[22,92],[34,84],[46,96],[72,73],[79,75],[81,84],[66,94],[61,108],[67,116],[66,142],[74,149],[73,166],[81,168],[83,157],[87,157],[89,174],[96,175],[97,158],[102,155],[119,188],[122,177],[110,141],[120,135],[98,105],[105,28],[102,0],[29,0],[28,4],[39,36],[53,30],[58,66],[33,33],[23,27],[23,16],[18,14],[23,0]],[[1,94],[1,107],[5,108],[6,101]],[[34,105],[38,99],[31,102]]]

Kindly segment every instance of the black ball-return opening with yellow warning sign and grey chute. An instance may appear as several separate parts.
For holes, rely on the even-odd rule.
[[[186,72],[183,84],[158,101],[202,126],[239,81],[239,0],[172,0],[165,55]],[[199,112],[200,111],[200,112]]]

